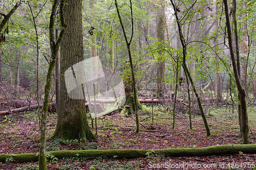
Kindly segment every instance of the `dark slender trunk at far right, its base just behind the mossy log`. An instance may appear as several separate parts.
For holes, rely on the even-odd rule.
[[[236,1],[233,1],[236,3]],[[233,66],[233,72],[234,72],[234,78],[236,79],[236,85],[238,88],[238,91],[240,93],[240,103],[241,103],[241,127],[242,127],[242,134],[243,134],[243,143],[249,143],[249,126],[248,126],[248,116],[247,116],[247,106],[246,106],[246,93],[245,90],[242,87],[236,58],[234,55],[234,49],[232,44],[232,31],[231,31],[231,24],[229,19],[229,10],[228,10],[228,4],[227,0],[223,0],[224,6],[225,6],[225,15],[226,15],[226,24],[227,24],[227,33],[228,33],[228,45],[229,45],[229,51]]]

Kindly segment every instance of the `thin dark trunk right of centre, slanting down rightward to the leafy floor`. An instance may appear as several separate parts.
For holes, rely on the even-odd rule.
[[[208,126],[207,119],[206,119],[206,116],[205,116],[204,111],[203,111],[201,100],[199,98],[199,95],[198,95],[197,89],[195,87],[194,81],[193,81],[193,79],[192,79],[192,77],[190,75],[190,72],[189,72],[189,70],[187,68],[187,65],[186,65],[186,56],[187,56],[186,42],[185,42],[185,39],[184,39],[183,34],[182,34],[182,29],[181,29],[181,26],[180,26],[180,20],[179,20],[179,17],[178,17],[177,7],[175,6],[175,4],[174,4],[174,2],[172,0],[170,0],[170,2],[172,3],[173,8],[174,8],[176,22],[177,22],[178,29],[179,29],[180,41],[181,41],[181,45],[182,45],[182,52],[183,52],[182,67],[183,67],[184,71],[186,72],[187,77],[188,77],[188,79],[189,79],[189,81],[191,83],[191,87],[193,88],[193,91],[194,91],[194,93],[195,93],[195,95],[197,97],[198,106],[199,106],[200,113],[201,113],[201,116],[202,116],[203,121],[204,121],[205,129],[206,129],[206,135],[210,136],[210,128]]]

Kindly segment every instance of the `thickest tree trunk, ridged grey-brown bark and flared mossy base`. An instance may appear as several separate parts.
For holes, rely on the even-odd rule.
[[[82,1],[67,0],[63,14],[67,29],[60,44],[60,72],[83,60]],[[95,138],[87,120],[84,100],[69,98],[65,77],[60,77],[60,109],[55,136],[62,139]]]

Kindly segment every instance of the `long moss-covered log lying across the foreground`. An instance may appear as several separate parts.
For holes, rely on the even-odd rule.
[[[256,154],[256,144],[225,144],[214,145],[203,148],[169,148],[158,150],[139,150],[139,149],[115,149],[115,150],[85,150],[85,151],[51,151],[46,154],[53,155],[55,158],[73,158],[82,157],[93,159],[96,157],[107,156],[117,158],[139,158],[145,157],[147,152],[161,153],[168,157],[179,156],[210,156],[210,155],[227,155],[227,154]],[[0,162],[8,160],[18,162],[38,161],[39,153],[24,154],[0,154]]]

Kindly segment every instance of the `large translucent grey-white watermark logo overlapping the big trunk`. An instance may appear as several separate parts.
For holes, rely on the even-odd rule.
[[[96,102],[106,101],[102,103],[108,103],[109,99],[116,100],[109,110],[125,103],[122,78],[117,72],[103,70],[99,57],[86,59],[69,67],[65,71],[65,82],[70,98],[86,99],[93,118],[109,113],[94,105],[94,99]]]

